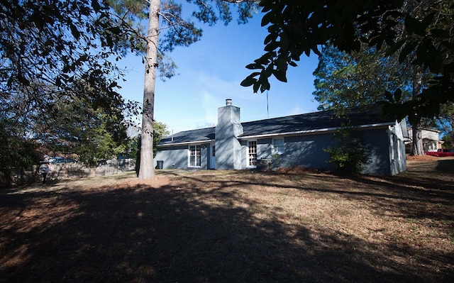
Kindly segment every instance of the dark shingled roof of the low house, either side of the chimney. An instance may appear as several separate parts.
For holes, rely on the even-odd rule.
[[[394,118],[382,116],[380,106],[370,106],[366,110],[354,108],[348,111],[348,119],[355,126],[373,125],[379,123],[392,123]],[[348,122],[347,118],[339,118],[333,110],[313,113],[270,118],[259,121],[241,123],[243,134],[240,137],[251,135],[271,135],[282,133],[294,133],[304,131],[316,131],[325,128],[336,128],[342,123]],[[179,132],[171,137],[164,138],[160,145],[173,143],[189,143],[195,141],[214,140],[216,127],[201,128],[192,131]]]

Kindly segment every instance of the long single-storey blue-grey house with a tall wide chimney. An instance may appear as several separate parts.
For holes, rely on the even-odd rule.
[[[392,175],[406,170],[404,134],[406,123],[383,118],[381,109],[351,111],[350,121],[371,152],[367,174]],[[245,170],[258,161],[279,156],[279,167],[301,165],[332,170],[323,148],[335,146],[332,138],[345,118],[333,111],[320,111],[240,123],[240,108],[226,99],[218,108],[216,127],[183,131],[157,145],[157,160],[163,169]]]

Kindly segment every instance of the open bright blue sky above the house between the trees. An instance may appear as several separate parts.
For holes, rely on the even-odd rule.
[[[287,83],[270,81],[269,116],[266,92],[254,94],[252,87],[240,86],[252,72],[245,65],[263,54],[267,30],[260,27],[260,20],[259,13],[245,25],[232,22],[228,26],[202,26],[204,35],[199,42],[170,53],[178,75],[165,82],[157,80],[155,120],[167,124],[171,133],[215,126],[217,109],[225,105],[225,99],[233,99],[233,105],[240,107],[242,122],[316,111],[319,104],[312,95],[312,72],[318,57],[314,54],[301,56],[298,67],[289,67]],[[129,70],[119,92],[126,99],[141,102],[141,58],[128,55],[119,67]]]

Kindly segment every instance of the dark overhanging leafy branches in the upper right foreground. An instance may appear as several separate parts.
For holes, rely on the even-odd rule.
[[[365,43],[433,74],[417,99],[397,102],[398,91],[384,111],[399,118],[433,117],[442,104],[454,101],[453,1],[262,0],[259,6],[268,31],[265,53],[246,66],[254,72],[241,82],[244,87],[263,92],[270,89],[271,76],[287,82],[289,65],[297,66],[301,55],[320,56],[319,48],[328,43],[347,53]]]

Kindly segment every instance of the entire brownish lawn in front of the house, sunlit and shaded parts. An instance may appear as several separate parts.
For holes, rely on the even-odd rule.
[[[454,282],[453,168],[163,170],[2,190],[0,282]]]

